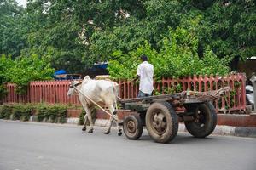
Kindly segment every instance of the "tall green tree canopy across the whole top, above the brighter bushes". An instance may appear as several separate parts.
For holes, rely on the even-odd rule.
[[[55,70],[84,72],[96,61],[115,59],[115,51],[130,54],[145,41],[160,53],[158,43],[170,37],[169,28],[196,36],[196,45],[189,45],[200,59],[210,49],[234,61],[256,53],[253,0],[29,0],[26,9],[3,0],[0,8],[0,54],[13,59],[38,54]]]

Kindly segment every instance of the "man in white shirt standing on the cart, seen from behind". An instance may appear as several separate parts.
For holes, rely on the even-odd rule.
[[[154,76],[154,66],[148,63],[148,57],[142,55],[141,59],[143,63],[137,66],[137,77],[132,81],[136,82],[137,79],[140,79],[140,87],[138,98],[151,96],[154,90],[153,87],[153,76]]]

